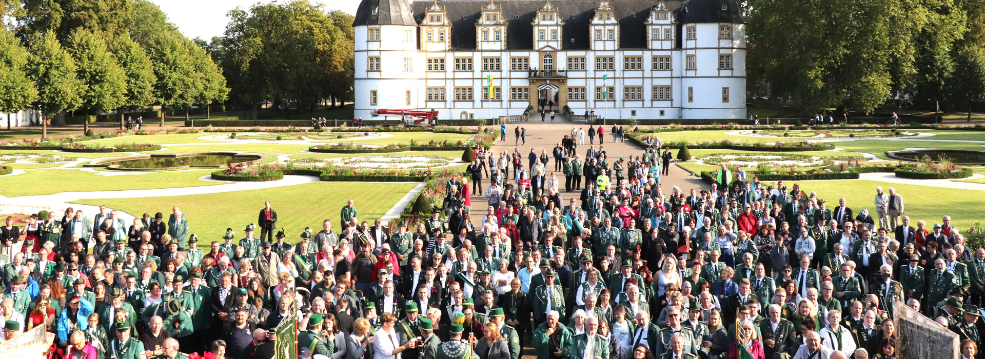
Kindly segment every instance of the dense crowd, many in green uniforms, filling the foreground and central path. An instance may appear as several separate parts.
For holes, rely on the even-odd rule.
[[[665,191],[671,153],[650,144],[610,160],[565,141],[526,163],[477,149],[472,192],[448,180],[430,217],[384,225],[349,201],[341,222],[287,233],[267,202],[206,252],[177,207],[129,225],[104,207],[8,217],[0,336],[45,326],[62,358],[268,359],[296,319],[302,358],[892,359],[898,302],[981,358],[985,249],[950,216],[914,223],[881,188],[829,207],[744,171]]]

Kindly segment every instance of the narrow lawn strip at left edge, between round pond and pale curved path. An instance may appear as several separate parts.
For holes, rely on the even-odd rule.
[[[170,172],[133,172],[117,176],[78,169],[39,169],[24,174],[0,177],[0,195],[7,197],[50,195],[59,192],[89,192],[143,190],[191,186],[211,186],[222,182],[202,181],[198,178],[211,173],[211,169]],[[119,172],[113,172],[119,173]]]

